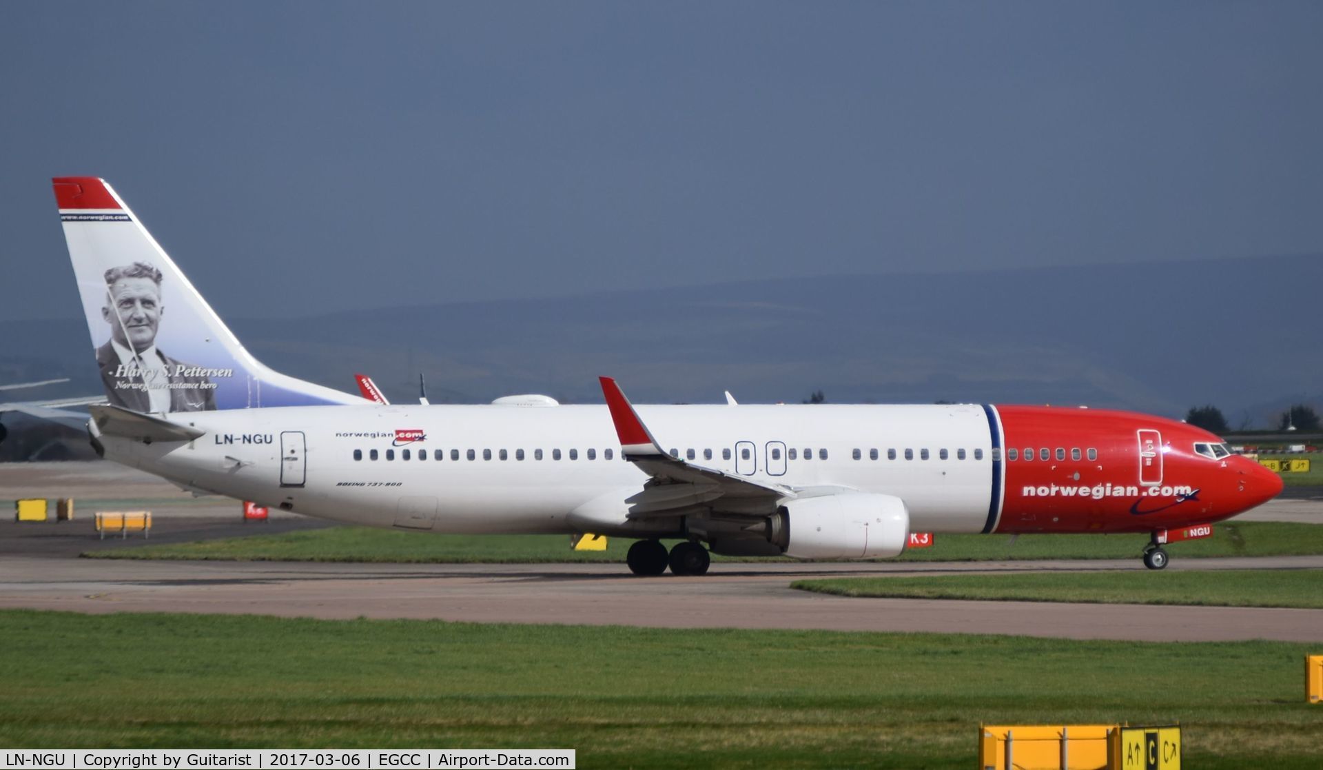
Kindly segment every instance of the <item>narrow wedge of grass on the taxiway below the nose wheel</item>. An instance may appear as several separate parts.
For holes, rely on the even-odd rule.
[[[1318,569],[828,578],[790,587],[844,597],[1323,609]]]

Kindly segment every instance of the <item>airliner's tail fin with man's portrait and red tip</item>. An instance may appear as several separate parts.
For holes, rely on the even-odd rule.
[[[161,413],[363,402],[254,359],[105,180],[52,181],[111,405]]]

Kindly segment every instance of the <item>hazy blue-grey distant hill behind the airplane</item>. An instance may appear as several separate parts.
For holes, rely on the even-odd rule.
[[[611,374],[643,402],[713,402],[722,389],[799,401],[820,389],[833,402],[1086,404],[1171,417],[1211,402],[1234,427],[1265,425],[1290,400],[1323,401],[1320,287],[1323,255],[1310,255],[228,320],[277,369],[351,392],[353,373],[366,372],[396,401],[417,396],[418,372],[433,402],[597,402],[595,377]],[[226,304],[238,302],[217,302],[222,316],[233,315]],[[74,378],[62,392],[95,392],[82,319],[0,323],[0,382],[50,377]]]

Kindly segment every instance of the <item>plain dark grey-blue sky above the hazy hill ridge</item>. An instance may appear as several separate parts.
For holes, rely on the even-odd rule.
[[[78,315],[56,175],[246,316],[1323,251],[1319,3],[3,13],[0,320]]]

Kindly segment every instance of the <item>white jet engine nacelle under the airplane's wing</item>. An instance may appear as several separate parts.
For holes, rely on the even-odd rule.
[[[905,550],[909,512],[890,495],[790,500],[769,520],[767,540],[795,558],[886,558]]]

